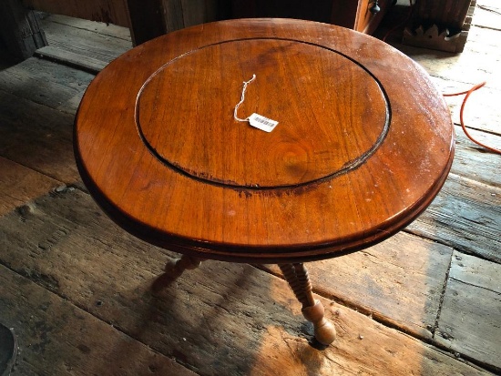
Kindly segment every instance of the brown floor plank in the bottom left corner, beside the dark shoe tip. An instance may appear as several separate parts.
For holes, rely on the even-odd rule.
[[[18,342],[12,376],[196,375],[3,265],[0,286],[0,321]]]

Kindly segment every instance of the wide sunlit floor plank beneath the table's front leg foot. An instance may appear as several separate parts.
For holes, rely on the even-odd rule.
[[[152,294],[165,251],[117,229],[77,189],[35,205],[24,221],[0,218],[0,263],[199,374],[487,373],[320,297],[339,336],[315,350],[286,283],[248,265],[206,261]]]

